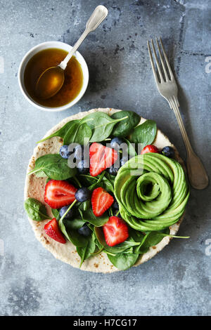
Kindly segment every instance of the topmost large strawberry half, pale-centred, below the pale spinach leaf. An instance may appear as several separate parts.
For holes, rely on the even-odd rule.
[[[98,176],[101,172],[112,166],[118,158],[117,151],[101,145],[101,143],[92,143],[89,148],[91,176]]]

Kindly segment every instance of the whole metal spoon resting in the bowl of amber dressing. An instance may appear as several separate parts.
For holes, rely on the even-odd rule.
[[[94,12],[91,14],[89,20],[87,21],[86,29],[81,37],[79,37],[75,46],[72,47],[72,50],[65,59],[60,62],[57,67],[49,67],[39,76],[36,84],[36,94],[38,98],[46,100],[51,98],[53,95],[60,91],[62,88],[65,75],[64,70],[67,67],[67,64],[72,58],[72,55],[77,51],[77,48],[82,44],[82,41],[87,37],[89,32],[94,31],[98,25],[103,22],[103,20],[108,15],[108,9],[104,6],[97,6]]]

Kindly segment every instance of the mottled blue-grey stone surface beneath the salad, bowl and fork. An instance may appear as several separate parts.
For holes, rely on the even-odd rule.
[[[191,190],[179,231],[191,239],[174,239],[148,263],[112,275],[82,272],[54,259],[27,222],[23,187],[32,149],[70,114],[93,107],[134,110],[157,121],[186,157],[174,114],[155,87],[146,47],[151,37],[164,41],[182,88],[188,134],[210,171],[211,73],[205,72],[211,55],[210,0],[102,3],[108,18],[79,48],[89,66],[87,93],[70,110],[51,113],[35,109],[21,95],[20,60],[43,41],[74,44],[99,1],[0,0],[0,314],[210,315],[210,187]]]

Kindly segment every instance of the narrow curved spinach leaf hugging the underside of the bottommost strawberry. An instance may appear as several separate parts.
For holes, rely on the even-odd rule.
[[[96,234],[96,238],[98,239],[98,242],[101,244],[101,246],[104,247],[104,249],[106,251],[108,251],[110,253],[114,253],[114,254],[121,253],[121,252],[129,249],[132,246],[139,245],[139,242],[135,242],[134,239],[132,239],[132,237],[129,237],[129,239],[127,239],[123,243],[117,244],[115,246],[108,246],[108,244],[106,244],[106,240],[103,235],[103,230],[100,227],[95,227],[94,231]]]

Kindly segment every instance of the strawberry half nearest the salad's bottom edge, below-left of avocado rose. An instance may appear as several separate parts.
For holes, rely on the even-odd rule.
[[[110,216],[108,223],[103,225],[103,233],[109,246],[120,244],[129,237],[127,224],[117,216]]]

